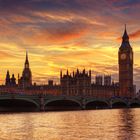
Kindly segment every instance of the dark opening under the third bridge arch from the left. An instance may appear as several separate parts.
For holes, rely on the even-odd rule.
[[[92,99],[86,102],[86,109],[109,108],[109,102],[104,99]]]

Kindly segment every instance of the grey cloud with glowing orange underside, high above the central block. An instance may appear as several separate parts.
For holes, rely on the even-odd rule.
[[[49,26],[39,29],[33,35],[27,36],[26,40],[30,44],[59,44],[74,41],[89,33],[89,27],[82,23],[64,23],[60,26]]]

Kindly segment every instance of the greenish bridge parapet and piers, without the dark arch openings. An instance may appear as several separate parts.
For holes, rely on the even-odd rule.
[[[51,94],[17,94],[17,93],[2,93],[0,94],[0,101],[6,100],[6,99],[16,99],[16,100],[25,100],[28,102],[32,102],[36,104],[40,110],[44,110],[45,106],[53,101],[59,101],[59,100],[69,100],[73,101],[81,106],[82,109],[86,108],[86,105],[91,102],[101,102],[106,103],[109,108],[112,108],[112,106],[115,103],[123,103],[127,107],[131,106],[131,104],[138,104],[140,105],[140,99],[126,99],[126,98],[96,98],[91,96],[66,96],[66,95],[51,95]]]

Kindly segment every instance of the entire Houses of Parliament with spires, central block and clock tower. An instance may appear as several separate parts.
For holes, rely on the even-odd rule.
[[[63,74],[60,72],[60,84],[53,84],[49,80],[47,85],[36,85],[32,83],[32,72],[29,65],[28,53],[26,52],[25,65],[22,76],[18,75],[16,80],[14,74],[10,76],[7,71],[5,85],[0,88],[24,89],[31,93],[68,95],[68,96],[93,96],[98,98],[126,97],[135,96],[135,86],[133,84],[133,49],[129,42],[129,36],[125,27],[122,36],[122,43],[118,51],[119,82],[114,83],[110,75],[97,75],[95,82],[92,82],[91,70],[73,71]]]

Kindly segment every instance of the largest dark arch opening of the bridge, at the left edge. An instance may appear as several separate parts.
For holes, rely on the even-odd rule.
[[[0,111],[37,111],[39,104],[31,99],[2,98],[0,99]]]

